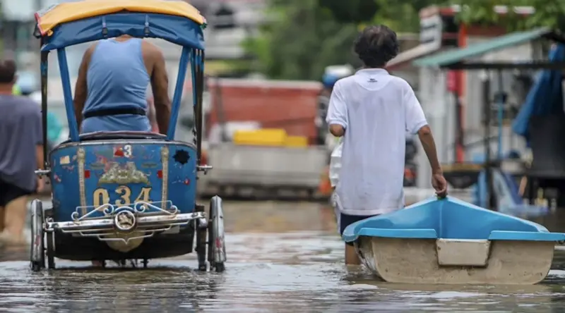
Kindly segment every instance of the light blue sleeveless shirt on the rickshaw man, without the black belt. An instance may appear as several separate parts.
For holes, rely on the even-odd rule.
[[[87,98],[83,113],[112,108],[140,108],[147,111],[145,93],[149,75],[143,63],[142,40],[124,42],[100,40],[90,58]],[[123,114],[85,118],[81,133],[96,131],[150,131],[147,116]]]

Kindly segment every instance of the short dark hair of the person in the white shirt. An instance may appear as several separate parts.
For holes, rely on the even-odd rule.
[[[398,55],[396,32],[385,25],[365,27],[355,40],[355,53],[369,68],[381,68]]]

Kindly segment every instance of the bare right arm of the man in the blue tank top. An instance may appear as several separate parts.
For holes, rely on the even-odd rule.
[[[169,99],[169,77],[165,67],[165,57],[153,44],[147,45],[153,59],[153,71],[151,73],[151,88],[153,90],[153,106],[157,117],[159,132],[163,135],[169,130],[171,118],[171,100]]]

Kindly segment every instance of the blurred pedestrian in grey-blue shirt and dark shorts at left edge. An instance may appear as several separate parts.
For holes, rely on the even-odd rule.
[[[43,189],[41,109],[13,94],[16,62],[0,59],[0,244],[25,244],[28,196]]]

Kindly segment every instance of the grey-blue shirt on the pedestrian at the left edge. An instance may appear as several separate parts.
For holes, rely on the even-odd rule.
[[[26,97],[1,95],[0,111],[0,181],[33,191],[35,152],[42,142],[40,107]]]

